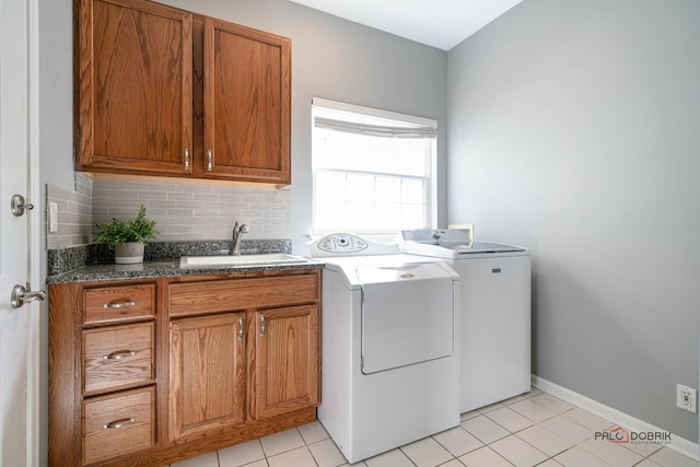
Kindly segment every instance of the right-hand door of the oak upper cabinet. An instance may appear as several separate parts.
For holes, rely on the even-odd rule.
[[[290,183],[291,42],[205,20],[203,176]]]

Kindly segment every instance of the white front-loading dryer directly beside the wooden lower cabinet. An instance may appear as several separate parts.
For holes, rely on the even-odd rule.
[[[318,420],[350,463],[459,423],[458,275],[398,245],[329,234]]]

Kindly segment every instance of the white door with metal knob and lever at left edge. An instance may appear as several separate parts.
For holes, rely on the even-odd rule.
[[[38,462],[38,313],[14,308],[15,284],[38,283],[37,0],[0,0],[0,465]],[[37,209],[13,215],[13,195]],[[32,255],[31,255],[32,253]]]

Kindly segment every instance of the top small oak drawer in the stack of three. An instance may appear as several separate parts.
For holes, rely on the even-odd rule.
[[[85,289],[83,306],[83,322],[86,324],[152,316],[155,310],[155,284]]]

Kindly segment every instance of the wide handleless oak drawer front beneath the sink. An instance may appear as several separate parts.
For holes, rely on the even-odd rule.
[[[170,314],[191,315],[318,301],[316,275],[229,279],[170,287]]]

